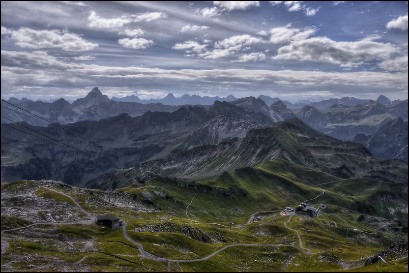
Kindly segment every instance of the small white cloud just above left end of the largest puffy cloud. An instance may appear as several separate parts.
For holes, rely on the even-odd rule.
[[[283,27],[270,28],[270,43],[279,44],[290,41],[299,41],[308,38],[316,32],[315,28],[307,28],[301,31],[299,28],[289,28],[289,24]]]

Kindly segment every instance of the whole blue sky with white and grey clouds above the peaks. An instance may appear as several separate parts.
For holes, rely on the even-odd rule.
[[[2,1],[2,99],[407,99],[406,1]]]

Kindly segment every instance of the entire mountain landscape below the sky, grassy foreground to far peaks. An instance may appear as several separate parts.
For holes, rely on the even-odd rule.
[[[344,101],[2,101],[2,271],[407,271],[407,101]]]

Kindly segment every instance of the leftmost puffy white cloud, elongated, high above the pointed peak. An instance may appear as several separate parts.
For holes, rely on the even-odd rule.
[[[89,51],[98,44],[87,42],[76,34],[54,29],[52,31],[36,31],[28,27],[20,27],[18,31],[12,31],[11,39],[20,47],[38,48],[61,48],[64,51]]]

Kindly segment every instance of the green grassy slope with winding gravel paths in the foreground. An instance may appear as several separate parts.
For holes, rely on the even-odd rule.
[[[228,248],[203,261],[167,263],[140,256],[122,229],[73,223],[3,232],[30,223],[23,221],[24,214],[3,217],[6,208],[17,205],[12,196],[37,192],[35,198],[48,194],[48,202],[73,207],[47,189],[77,202],[81,198],[89,213],[125,220],[129,236],[159,257],[200,259]],[[283,159],[207,181],[152,177],[106,192],[22,180],[2,183],[2,194],[11,196],[2,195],[2,236],[10,243],[2,266],[13,270],[30,269],[30,264],[41,268],[51,259],[60,261],[52,267],[56,271],[75,271],[78,261],[89,271],[371,271],[375,267],[364,266],[367,259],[389,249],[396,237],[407,239],[404,185],[340,179]],[[320,208],[319,217],[280,215],[283,208],[304,201]],[[34,260],[20,259],[24,253]],[[388,267],[376,270],[407,271],[407,258],[401,260],[398,253],[384,258]]]

